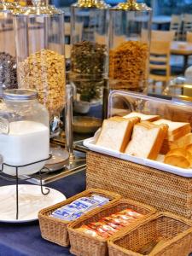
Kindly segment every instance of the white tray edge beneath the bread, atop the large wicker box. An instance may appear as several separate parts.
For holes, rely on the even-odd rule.
[[[183,176],[183,177],[192,177],[192,169],[183,169],[183,168],[180,168],[177,166],[171,166],[171,165],[167,165],[167,164],[163,163],[164,155],[162,155],[162,154],[159,154],[157,160],[149,160],[149,159],[144,159],[141,157],[135,157],[135,156],[132,156],[129,154],[122,154],[122,153],[120,153],[118,151],[114,151],[112,149],[99,147],[95,144],[95,142],[96,142],[96,138],[90,137],[88,139],[85,139],[83,144],[85,147],[89,148],[92,151],[96,151],[98,153],[108,154],[108,155],[117,157],[122,160],[128,160],[133,163],[137,163],[139,165],[153,167],[153,168],[158,169],[163,172],[171,172],[173,174],[177,174],[177,175]]]

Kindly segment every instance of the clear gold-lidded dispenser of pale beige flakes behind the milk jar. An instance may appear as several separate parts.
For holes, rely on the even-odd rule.
[[[38,91],[54,136],[66,101],[64,13],[47,2],[33,0],[14,15],[15,44],[19,88]]]

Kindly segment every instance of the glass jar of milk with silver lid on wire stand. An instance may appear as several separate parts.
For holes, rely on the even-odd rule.
[[[40,171],[49,157],[49,113],[34,90],[4,90],[0,103],[0,155],[3,172],[29,175]],[[0,163],[2,166],[2,163]],[[7,166],[7,165],[11,166]]]

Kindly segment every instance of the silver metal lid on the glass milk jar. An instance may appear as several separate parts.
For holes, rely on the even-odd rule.
[[[3,99],[8,101],[30,101],[38,98],[36,90],[9,89],[3,90]]]

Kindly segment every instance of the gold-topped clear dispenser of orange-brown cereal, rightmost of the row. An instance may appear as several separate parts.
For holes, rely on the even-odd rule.
[[[151,15],[151,9],[136,0],[127,0],[110,9],[110,89],[146,88]]]

